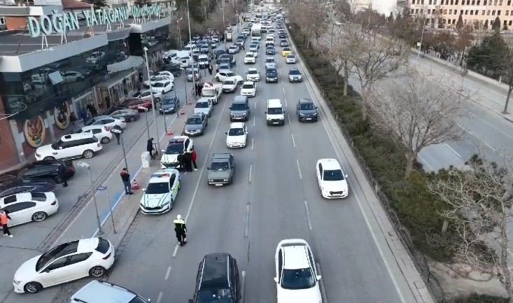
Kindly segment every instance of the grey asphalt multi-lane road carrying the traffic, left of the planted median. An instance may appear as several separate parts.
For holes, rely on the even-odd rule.
[[[404,278],[391,274],[391,267],[398,265],[382,258],[381,250],[388,248],[379,248],[374,242],[376,236],[361,211],[360,204],[367,203],[366,196],[346,164],[344,153],[332,142],[334,130],[326,123],[325,112],[321,111],[318,122],[297,121],[298,99],[319,100],[312,96],[306,83],[288,83],[288,70],[293,65],[285,64],[279,53],[274,56],[279,62],[279,83],[265,83],[265,57],[265,50],[260,48],[255,66],[262,80],[257,96],[250,99],[246,148],[229,150],[225,146],[225,132],[230,126],[228,108],[240,93],[238,89],[234,94],[223,95],[209,118],[206,133],[194,139],[199,169],[183,174],[174,209],[135,221],[134,232],[109,281],[150,297],[152,302],[187,302],[194,292],[202,257],[227,252],[237,258],[242,272],[243,302],[276,302],[276,244],[281,239],[302,238],[309,241],[321,268],[324,302],[412,302],[407,291],[397,288],[404,285],[400,281]],[[236,58],[234,71],[245,76],[246,69],[253,66],[243,64],[242,53]],[[309,81],[305,76],[304,81]],[[286,125],[282,127],[269,127],[265,122],[266,100],[274,98],[281,99],[286,109]],[[159,119],[157,122],[162,125],[162,118]],[[174,117],[168,119],[171,122]],[[174,128],[181,129],[177,123]],[[145,143],[142,136],[139,147],[129,156],[131,163],[137,163],[132,169],[139,166],[138,155]],[[236,164],[234,183],[223,188],[206,183],[208,160],[218,152],[233,153]],[[321,198],[314,167],[323,157],[338,158],[349,174],[350,194],[346,199]],[[115,168],[119,169],[122,160],[117,165]],[[115,169],[112,172],[113,176],[118,173]],[[117,178],[109,182],[120,188]],[[172,224],[178,213],[188,225],[189,242],[183,247],[176,246]],[[90,237],[94,216],[91,221],[87,228],[83,223],[73,222],[71,229],[82,237]],[[8,274],[2,283],[11,283],[10,279]],[[76,282],[78,286],[83,283]],[[5,302],[52,302],[57,293],[59,287],[36,295],[11,293]]]

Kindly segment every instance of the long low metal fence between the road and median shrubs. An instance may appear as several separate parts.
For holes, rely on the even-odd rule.
[[[307,62],[303,58],[303,62]],[[310,66],[306,66],[309,70],[310,74],[313,75]],[[330,107],[330,110],[332,112],[332,115],[334,116],[335,120],[337,120],[337,125],[339,126],[339,129],[341,130],[342,134],[344,135],[344,139],[346,139],[347,143],[349,143],[349,146],[351,147],[351,150],[353,151],[353,154],[356,157],[356,160],[358,160],[358,164],[360,164],[360,167],[363,169],[363,172],[365,174],[365,177],[367,178],[367,181],[369,181],[370,185],[372,185],[372,190],[374,190],[374,193],[377,195],[379,202],[381,202],[381,205],[385,209],[388,219],[391,221],[392,226],[397,232],[399,239],[401,240],[402,244],[405,246],[409,256],[412,258],[415,267],[419,270],[419,274],[421,274],[421,277],[426,283],[426,287],[428,288],[431,296],[433,297],[433,301],[435,303],[447,303],[447,300],[444,295],[444,290],[442,290],[442,286],[440,286],[440,283],[436,279],[435,276],[430,272],[428,262],[424,255],[417,251],[414,247],[412,237],[409,234],[409,231],[407,228],[400,223],[399,216],[395,211],[393,210],[388,197],[380,190],[379,183],[377,182],[376,178],[372,176],[372,171],[365,163],[365,159],[362,155],[360,155],[360,152],[358,151],[358,148],[356,148],[353,139],[351,138],[351,135],[349,134],[348,129],[346,129],[344,123],[342,122],[342,119],[339,117],[339,115],[336,113],[335,108],[332,104],[332,102],[329,100],[329,98],[326,96],[326,93],[323,90],[323,87],[318,83],[317,79],[315,77],[311,77],[314,82],[316,83],[316,86],[321,92],[321,95],[324,99],[328,100],[327,104]]]

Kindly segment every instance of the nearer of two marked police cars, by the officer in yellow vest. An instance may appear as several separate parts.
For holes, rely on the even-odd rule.
[[[141,211],[147,215],[171,211],[180,187],[180,172],[178,170],[160,169],[160,171],[156,171],[151,175],[146,188],[143,189]]]

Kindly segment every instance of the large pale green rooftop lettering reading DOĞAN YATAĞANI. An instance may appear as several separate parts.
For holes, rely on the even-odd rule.
[[[41,15],[39,17],[27,17],[29,33],[32,38],[41,34],[50,35],[53,33],[62,33],[63,31],[71,31],[80,29],[78,15],[82,13],[85,16],[85,24],[87,27],[95,25],[108,24],[128,20],[129,15],[134,18],[158,16],[162,13],[164,7],[162,4],[154,3],[151,6],[122,6],[118,8],[101,8],[95,10],[73,11],[69,13],[57,13],[53,10],[52,15]]]

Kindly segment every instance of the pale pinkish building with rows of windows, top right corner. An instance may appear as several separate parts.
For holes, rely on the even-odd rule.
[[[464,24],[491,29],[499,17],[503,29],[513,29],[513,0],[408,0],[411,15],[423,15],[437,27],[456,26],[461,15]]]

